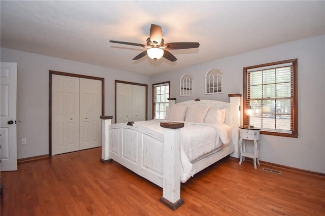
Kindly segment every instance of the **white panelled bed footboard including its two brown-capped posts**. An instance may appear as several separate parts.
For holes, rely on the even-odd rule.
[[[180,128],[184,123],[161,122],[164,135],[136,124],[113,124],[103,119],[102,162],[115,160],[163,188],[160,202],[175,210],[180,198]]]

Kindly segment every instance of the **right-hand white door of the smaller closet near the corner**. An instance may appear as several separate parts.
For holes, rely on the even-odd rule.
[[[132,116],[133,121],[146,120],[146,87],[132,85]]]

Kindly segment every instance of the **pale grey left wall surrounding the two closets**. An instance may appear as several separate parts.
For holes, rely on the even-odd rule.
[[[1,61],[18,63],[18,159],[49,153],[49,70],[105,78],[104,113],[107,116],[114,116],[115,80],[150,83],[148,76],[5,48],[1,48]],[[21,144],[22,138],[27,139],[26,145]]]

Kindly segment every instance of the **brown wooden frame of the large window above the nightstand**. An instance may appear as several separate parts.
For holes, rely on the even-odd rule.
[[[267,134],[267,135],[276,135],[276,136],[285,136],[285,137],[298,137],[298,59],[289,59],[289,60],[284,60],[284,61],[277,61],[277,62],[271,62],[271,63],[266,63],[266,64],[259,64],[259,65],[254,65],[254,66],[249,66],[249,67],[244,67],[243,68],[243,77],[244,77],[244,91],[243,91],[243,123],[247,124],[249,123],[249,118],[246,115],[246,110],[248,109],[247,104],[248,104],[248,91],[249,87],[247,84],[247,70],[253,69],[253,68],[263,68],[263,67],[269,67],[272,68],[274,65],[279,65],[279,64],[286,64],[286,63],[292,63],[293,71],[291,73],[291,99],[293,102],[291,103],[290,107],[290,121],[291,121],[291,133],[285,133],[281,131],[265,131],[261,130],[261,134]],[[275,68],[275,67],[274,67]],[[262,118],[262,117],[261,117]]]

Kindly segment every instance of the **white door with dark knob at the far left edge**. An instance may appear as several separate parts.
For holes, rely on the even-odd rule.
[[[1,170],[17,170],[17,63],[1,62]]]

